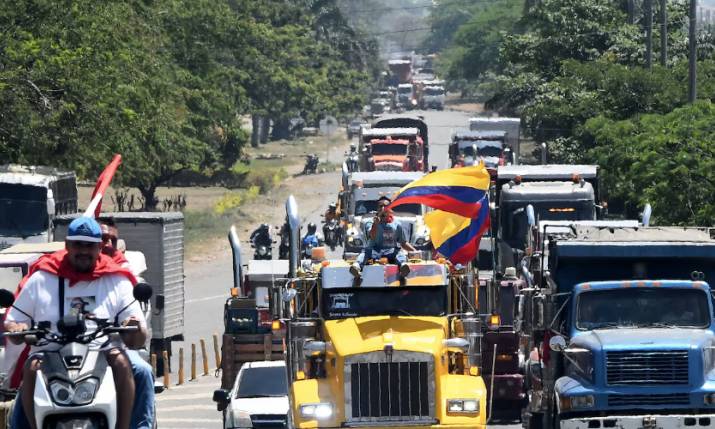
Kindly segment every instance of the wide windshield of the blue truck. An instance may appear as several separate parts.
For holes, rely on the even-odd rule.
[[[699,289],[619,288],[584,292],[576,328],[698,327],[710,325],[708,296]]]

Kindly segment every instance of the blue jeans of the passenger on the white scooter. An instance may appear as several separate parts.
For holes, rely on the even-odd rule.
[[[154,374],[144,359],[136,350],[126,350],[134,374],[135,396],[132,408],[131,429],[152,429],[154,427]],[[22,408],[20,393],[17,394],[15,406],[10,418],[10,429],[30,429],[30,423]]]

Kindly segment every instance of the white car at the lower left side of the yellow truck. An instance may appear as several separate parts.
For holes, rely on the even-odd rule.
[[[284,361],[243,364],[230,391],[217,390],[224,429],[288,427],[288,376]]]

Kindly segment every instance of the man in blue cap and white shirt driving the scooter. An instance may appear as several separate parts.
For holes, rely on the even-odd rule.
[[[76,311],[69,302],[81,299],[88,303],[85,311],[97,318],[120,316],[125,326],[138,326],[133,332],[125,332],[121,338],[125,344],[136,346],[146,341],[146,320],[139,304],[134,302],[132,285],[136,282],[132,273],[118,266],[112,258],[100,253],[102,232],[99,224],[92,218],[80,217],[69,225],[65,250],[43,257],[40,268],[33,273],[20,290],[14,307],[27,313],[22,314],[10,308],[5,318],[5,330],[21,332],[30,328],[30,318],[37,321],[49,321],[53,331],[63,316]],[[124,307],[127,309],[119,314]],[[62,313],[62,314],[61,314]],[[29,316],[29,317],[28,317]],[[88,329],[94,322],[88,320]],[[13,341],[20,342],[19,338]],[[103,344],[104,343],[104,344]],[[94,343],[93,343],[94,344]],[[117,425],[119,429],[129,429],[132,406],[135,398],[135,383],[132,367],[121,342],[99,340],[97,347],[106,350],[107,362],[112,368],[117,389]],[[42,350],[52,345],[32,347],[23,370],[23,384],[19,397],[28,422],[35,429],[34,393],[37,371],[40,369]],[[13,425],[13,427],[16,427]]]

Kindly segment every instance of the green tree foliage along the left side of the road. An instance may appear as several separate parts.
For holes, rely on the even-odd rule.
[[[177,173],[227,168],[241,115],[358,108],[374,43],[335,0],[14,0],[0,7],[0,157],[117,180],[149,206]]]

